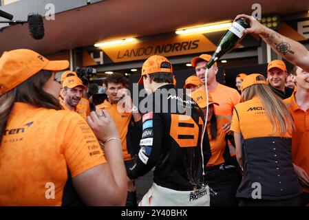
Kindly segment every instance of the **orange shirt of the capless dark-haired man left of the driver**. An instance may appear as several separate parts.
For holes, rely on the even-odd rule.
[[[128,132],[128,126],[129,122],[131,120],[131,113],[121,113],[117,109],[117,104],[111,104],[107,100],[105,100],[102,104],[98,104],[96,106],[97,109],[105,109],[108,111],[109,115],[111,115],[111,118],[116,123],[116,126],[118,128],[119,136],[121,139],[121,145],[122,145],[122,155],[124,160],[131,160],[131,155],[127,151],[127,132]]]

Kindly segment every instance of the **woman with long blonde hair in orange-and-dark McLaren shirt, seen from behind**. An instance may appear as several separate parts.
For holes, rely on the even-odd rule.
[[[236,157],[244,171],[237,189],[240,206],[299,206],[301,188],[291,159],[292,116],[261,74],[242,83],[235,106]]]

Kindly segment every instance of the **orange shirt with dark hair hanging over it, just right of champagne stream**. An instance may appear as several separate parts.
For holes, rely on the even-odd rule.
[[[224,163],[224,151],[226,147],[225,132],[222,127],[226,123],[225,120],[217,119],[217,135],[215,139],[211,140],[211,125],[207,124],[207,131],[209,136],[209,144],[211,146],[211,158],[206,166],[216,166]]]

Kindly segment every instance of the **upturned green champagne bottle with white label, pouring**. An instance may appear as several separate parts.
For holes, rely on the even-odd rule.
[[[211,68],[217,59],[233,50],[235,45],[237,45],[237,43],[239,43],[239,41],[241,41],[244,37],[244,30],[246,28],[250,28],[250,25],[246,19],[238,19],[237,21],[233,22],[231,28],[229,28],[220,39],[217,45],[217,50],[215,50],[213,56],[206,64],[206,69]]]

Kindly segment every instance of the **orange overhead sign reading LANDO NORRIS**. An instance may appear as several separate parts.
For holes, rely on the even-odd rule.
[[[158,41],[128,43],[116,47],[101,47],[100,49],[103,50],[114,63],[119,63],[145,60],[154,54],[161,56],[178,56],[214,51],[216,45],[209,41],[203,34],[198,34],[193,36],[177,36]]]

